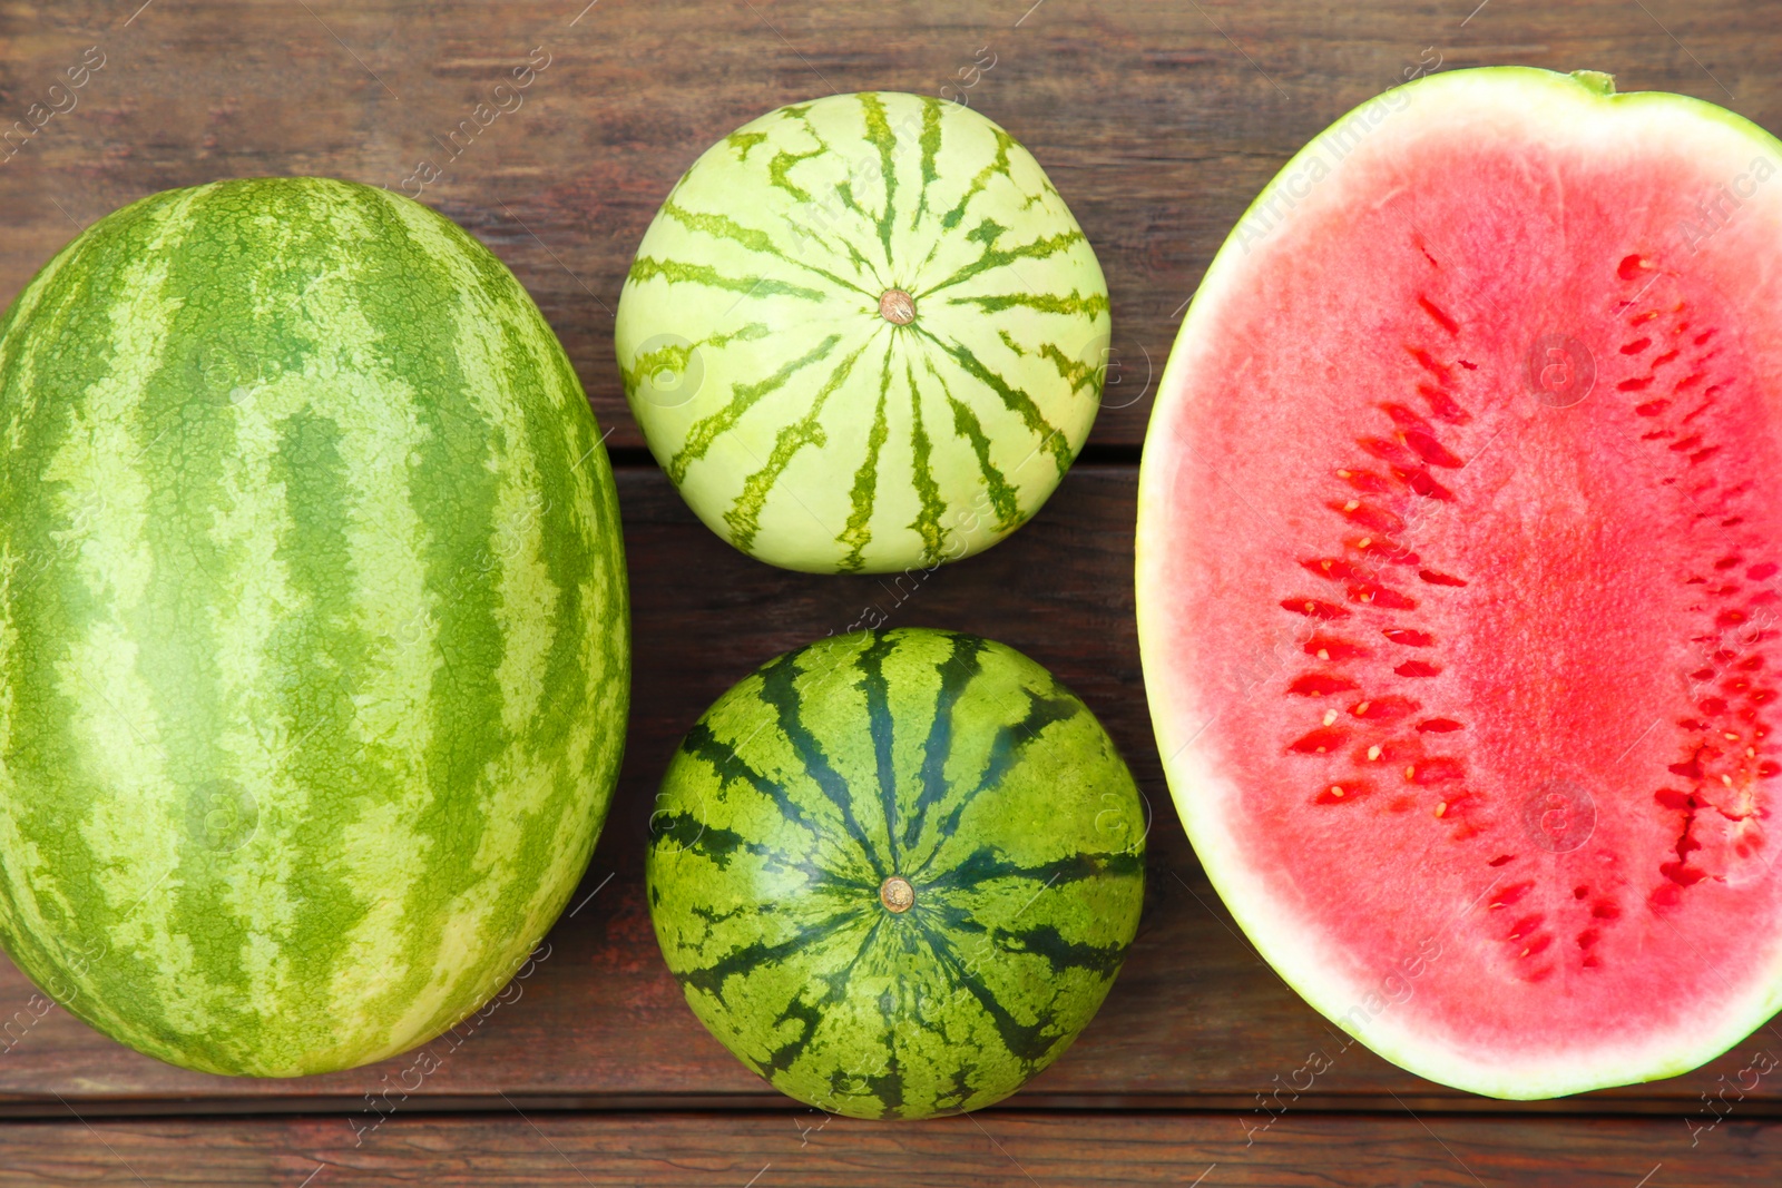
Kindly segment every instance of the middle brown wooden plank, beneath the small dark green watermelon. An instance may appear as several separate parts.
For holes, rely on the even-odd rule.
[[[1130,467],[1076,467],[1021,533],[916,582],[759,565],[706,531],[659,472],[620,470],[636,606],[625,768],[572,907],[593,898],[558,924],[549,956],[510,1001],[428,1046],[428,1058],[412,1053],[301,1081],[232,1081],[137,1056],[62,1010],[36,1019],[32,989],[0,962],[0,1031],[16,1035],[0,1056],[0,1110],[61,1111],[61,1095],[84,1113],[367,1115],[378,1106],[365,1094],[488,1106],[501,1104],[497,1090],[552,1104],[772,1104],[773,1094],[700,1029],[661,964],[642,896],[649,812],[670,750],[718,693],[782,650],[879,622],[975,631],[1055,670],[1108,725],[1153,810],[1149,903],[1132,960],[1099,1019],[1016,1104],[1222,1104],[1258,1122],[1283,1103],[1397,1108],[1394,1095],[1415,1108],[1497,1108],[1399,1072],[1360,1046],[1344,1049],[1240,940],[1206,885],[1164,787],[1144,705],[1130,586],[1133,483]],[[1552,1108],[1707,1110],[1704,1094],[1739,1101],[1737,1074],[1759,1051],[1782,1053],[1782,1035],[1762,1031],[1670,1083]],[[1326,1062],[1308,1079],[1308,1063]],[[1782,1110],[1777,1079],[1757,1081],[1739,1108]]]

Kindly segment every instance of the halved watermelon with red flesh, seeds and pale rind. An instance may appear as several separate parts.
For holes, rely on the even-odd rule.
[[[1246,216],[1164,379],[1171,785],[1381,1054],[1502,1097],[1675,1074],[1782,990],[1782,146],[1545,71],[1377,103]]]

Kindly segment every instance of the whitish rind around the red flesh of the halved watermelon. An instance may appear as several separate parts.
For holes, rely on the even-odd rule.
[[[1185,417],[1185,401],[1171,401],[1208,349],[1201,326],[1214,321],[1214,312],[1242,283],[1251,249],[1271,228],[1312,194],[1317,201],[1342,196],[1342,160],[1356,142],[1388,135],[1381,128],[1404,130],[1420,119],[1440,123],[1456,112],[1481,121],[1502,118],[1531,130],[1559,130],[1579,144],[1588,144],[1595,128],[1627,128],[1631,125],[1620,121],[1634,121],[1655,137],[1675,137],[1716,155],[1725,162],[1729,178],[1748,169],[1753,157],[1782,160],[1782,142],[1734,112],[1691,96],[1616,93],[1613,78],[1598,71],[1565,75],[1536,68],[1483,68],[1436,73],[1347,112],[1256,196],[1214,256],[1183,319],[1158,385],[1140,463],[1137,620],[1153,728],[1176,809],[1208,880],[1258,953],[1319,1013],[1392,1063],[1454,1088],[1529,1101],[1679,1076],[1727,1053],[1782,1008],[1782,960],[1768,978],[1729,992],[1711,1019],[1693,1021],[1666,1035],[1627,1035],[1614,1049],[1541,1051],[1531,1044],[1520,1051],[1481,1054],[1461,1051],[1418,1028],[1415,999],[1411,1008],[1394,1010],[1383,1001],[1379,985],[1340,972],[1347,967],[1340,953],[1303,928],[1290,912],[1271,907],[1274,896],[1265,873],[1246,860],[1222,812],[1222,805],[1237,796],[1237,787],[1194,746],[1196,737],[1217,720],[1217,707],[1198,704],[1194,689],[1174,677],[1187,663],[1173,654],[1181,639],[1167,631],[1169,590],[1160,577],[1167,563],[1160,545],[1164,518],[1183,515],[1169,500],[1176,468],[1217,465],[1196,456],[1178,426]],[[1746,201],[1753,203],[1748,217],[1782,228],[1782,194],[1773,187]],[[1335,306],[1333,317],[1340,317]],[[1169,442],[1167,451],[1162,442]],[[1187,513],[1192,515],[1192,509]],[[1454,914],[1467,907],[1449,905]],[[1433,912],[1433,919],[1440,924],[1442,912]],[[1408,956],[1415,960],[1415,955]]]

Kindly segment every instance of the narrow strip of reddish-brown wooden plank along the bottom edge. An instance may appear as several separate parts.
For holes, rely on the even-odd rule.
[[[1217,1113],[985,1111],[886,1124],[786,1113],[390,1117],[360,1135],[340,1119],[16,1124],[7,1184],[413,1184],[563,1188],[1773,1188],[1782,1124],[1675,1119],[1283,1119],[1249,1135]],[[356,1145],[355,1145],[356,1143]],[[308,1179],[307,1179],[308,1177]]]

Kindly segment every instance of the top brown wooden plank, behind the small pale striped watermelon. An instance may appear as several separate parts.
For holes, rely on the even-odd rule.
[[[406,182],[513,265],[613,442],[636,445],[611,310],[681,171],[781,103],[952,87],[1034,150],[1096,246],[1116,383],[1092,442],[1132,447],[1180,308],[1238,214],[1306,139],[1406,69],[1613,69],[1623,89],[1682,91],[1782,128],[1782,25],[1764,5],[1493,4],[1463,20],[1472,7],[442,0],[422,16],[396,0],[160,0],[132,16],[135,4],[110,0],[9,4],[0,125],[32,103],[73,107],[0,164],[0,301],[77,224],[159,189],[266,173]],[[69,93],[64,71],[86,46],[105,64]],[[465,132],[529,59],[547,64],[519,105],[499,100],[511,110]],[[973,75],[977,61],[994,64]],[[975,85],[960,91],[960,73]],[[410,182],[422,160],[440,171],[429,185]]]

